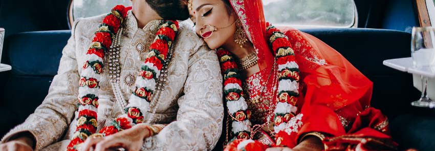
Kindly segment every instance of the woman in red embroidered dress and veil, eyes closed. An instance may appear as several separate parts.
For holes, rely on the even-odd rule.
[[[387,118],[369,106],[372,81],[333,48],[266,23],[260,0],[189,0],[188,7],[196,33],[220,59],[226,150],[259,142],[268,150],[397,146]]]

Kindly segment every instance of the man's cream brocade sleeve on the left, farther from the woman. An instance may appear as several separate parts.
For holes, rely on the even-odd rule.
[[[49,93],[35,112],[24,123],[14,127],[6,134],[2,143],[33,139],[35,150],[39,150],[59,140],[68,130],[68,125],[76,110],[75,103],[78,94],[78,66],[76,61],[75,21],[71,30],[71,37],[63,48],[57,75],[50,85]],[[44,53],[44,50],[41,50]],[[28,100],[36,101],[36,100]]]

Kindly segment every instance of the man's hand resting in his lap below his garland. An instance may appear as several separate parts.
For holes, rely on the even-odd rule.
[[[123,147],[125,150],[140,150],[143,145],[143,140],[150,135],[150,131],[148,131],[146,125],[138,124],[128,130],[103,138],[90,137],[86,139],[80,150],[88,151],[91,150],[91,148],[95,148],[97,151],[115,147]]]

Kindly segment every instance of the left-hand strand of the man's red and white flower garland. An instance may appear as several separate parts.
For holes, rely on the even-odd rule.
[[[86,52],[86,61],[83,63],[79,80],[77,128],[67,150],[77,150],[77,144],[84,142],[88,136],[96,132],[98,90],[103,73],[104,53],[112,45],[113,37],[126,16],[127,9],[124,6],[115,6],[111,13],[104,17]]]

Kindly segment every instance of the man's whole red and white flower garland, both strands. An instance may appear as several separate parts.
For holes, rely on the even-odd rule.
[[[112,45],[114,35],[117,34],[120,26],[127,16],[127,9],[118,5],[112,9],[103,19],[95,33],[93,42],[86,53],[86,60],[83,65],[82,75],[79,81],[79,116],[77,118],[77,129],[73,139],[67,146],[67,150],[77,150],[86,138],[95,134],[97,130],[97,107],[99,79],[103,72],[103,58],[108,47]],[[175,20],[164,21],[156,39],[150,46],[150,51],[141,68],[139,78],[136,81],[136,90],[130,96],[129,103],[124,109],[125,114],[116,118],[111,126],[105,126],[100,130],[102,136],[115,134],[126,130],[135,124],[143,122],[143,113],[149,107],[150,97],[155,91],[156,79],[160,76],[163,63],[166,60],[169,48],[175,40],[179,29]],[[80,97],[82,96],[82,97]]]

